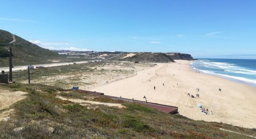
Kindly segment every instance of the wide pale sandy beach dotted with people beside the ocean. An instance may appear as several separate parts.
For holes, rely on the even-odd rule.
[[[200,91],[197,92],[196,88]],[[221,92],[219,88],[222,88]],[[255,87],[196,73],[185,60],[157,63],[155,67],[138,71],[136,76],[91,90],[141,101],[145,101],[145,95],[149,102],[179,107],[181,115],[193,120],[256,128]],[[188,93],[195,97],[198,93],[200,97],[191,98]],[[198,104],[213,114],[201,114]]]

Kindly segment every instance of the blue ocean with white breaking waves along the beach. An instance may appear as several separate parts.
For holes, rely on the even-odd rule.
[[[256,59],[199,59],[191,67],[203,73],[222,76],[256,86]]]

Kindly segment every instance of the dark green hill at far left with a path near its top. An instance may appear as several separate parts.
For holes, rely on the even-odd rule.
[[[8,50],[12,46],[13,66],[26,65],[28,63],[52,63],[53,60],[61,61],[66,57],[48,49],[41,48],[36,44],[14,35],[4,30],[0,30],[0,65],[7,66]],[[13,43],[10,43],[13,42]]]

